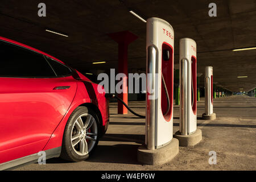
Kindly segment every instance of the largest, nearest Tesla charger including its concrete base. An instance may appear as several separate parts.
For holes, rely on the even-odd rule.
[[[174,29],[163,19],[147,19],[146,146],[138,160],[161,164],[179,152],[173,139]]]

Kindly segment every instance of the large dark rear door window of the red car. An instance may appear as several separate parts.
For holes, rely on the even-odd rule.
[[[0,41],[0,77],[56,77],[43,55]]]

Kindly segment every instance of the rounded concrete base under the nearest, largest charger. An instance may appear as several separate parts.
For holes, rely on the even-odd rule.
[[[155,150],[147,150],[146,146],[138,148],[138,162],[148,165],[160,165],[174,159],[179,153],[179,140],[172,138],[171,142]]]

